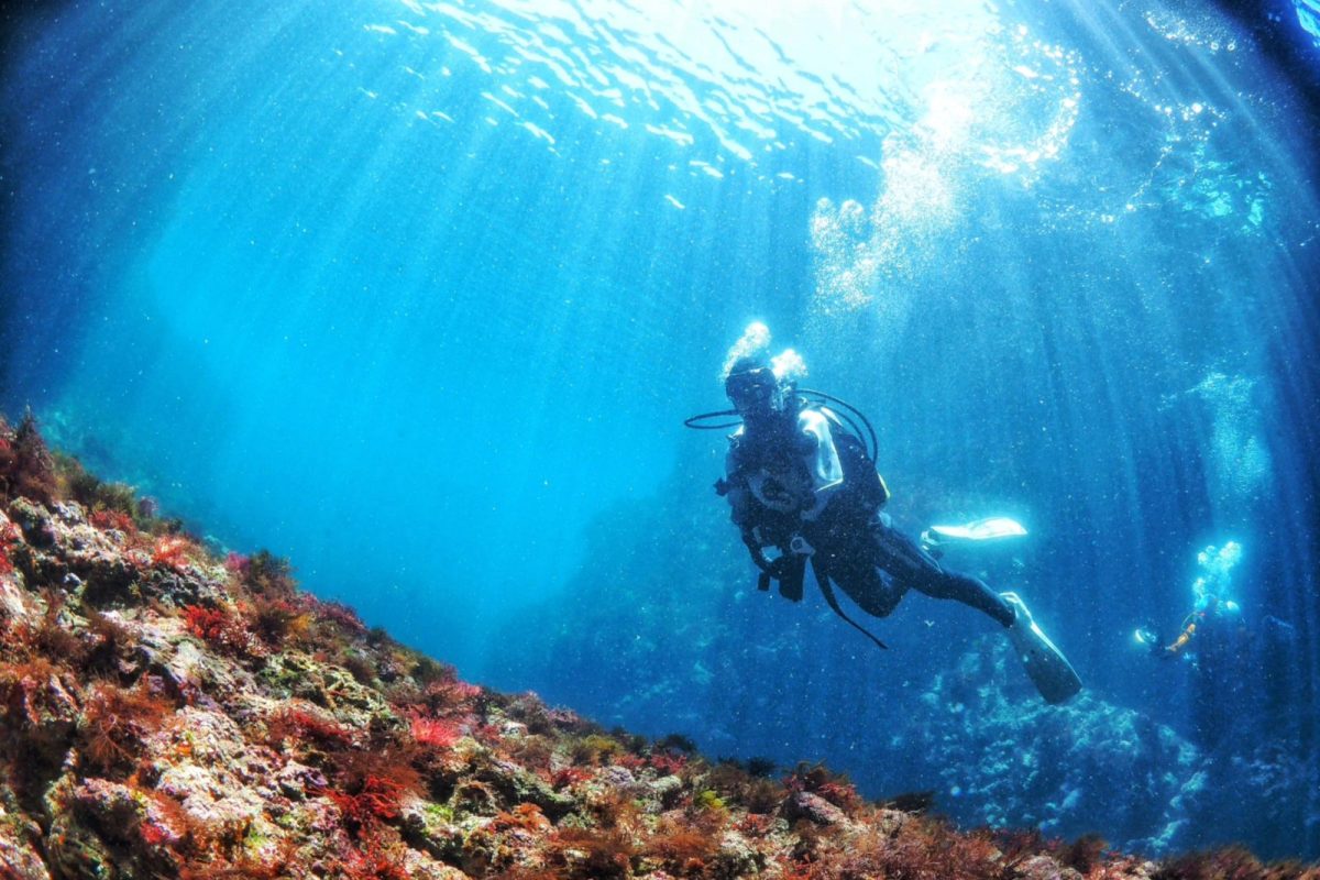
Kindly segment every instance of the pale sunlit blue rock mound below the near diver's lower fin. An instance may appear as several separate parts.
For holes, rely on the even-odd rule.
[[[1002,639],[965,654],[920,699],[902,738],[917,744],[960,817],[1014,819],[1051,834],[1104,814],[1106,830],[1144,852],[1185,850],[1204,756],[1148,716],[1084,691],[1055,707],[1014,694]],[[1081,821],[1081,822],[1080,822]]]

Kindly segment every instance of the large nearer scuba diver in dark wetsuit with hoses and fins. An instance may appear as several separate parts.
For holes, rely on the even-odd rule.
[[[931,553],[937,542],[931,532],[923,536],[923,548],[891,525],[880,512],[890,491],[875,468],[870,422],[837,397],[799,389],[797,379],[805,375],[801,358],[788,350],[768,359],[768,346],[764,325],[751,325],[725,364],[725,392],[734,409],[685,422],[700,429],[737,425],[715,491],[729,501],[733,522],[760,570],[758,587],[768,590],[775,581],[780,595],[799,602],[809,562],[830,608],[880,648],[886,645],[843,612],[832,584],[876,617],[891,613],[913,588],[954,599],[1005,628],[1045,702],[1063,703],[1081,690],[1077,673],[1016,594],[995,592],[941,566]],[[710,421],[726,416],[737,421]]]

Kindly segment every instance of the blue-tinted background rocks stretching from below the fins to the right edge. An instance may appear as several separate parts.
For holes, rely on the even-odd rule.
[[[986,640],[936,677],[903,728],[960,819],[1076,834],[1105,815],[1106,834],[1142,852],[1204,847],[1206,830],[1287,851],[1290,805],[1317,782],[1303,756],[1265,741],[1210,751],[1089,693],[1063,707],[1018,698],[1014,665]]]

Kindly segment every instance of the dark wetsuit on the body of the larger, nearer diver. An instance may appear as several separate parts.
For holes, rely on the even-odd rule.
[[[766,569],[760,551],[766,546],[780,548],[781,558],[791,559],[792,538],[800,536],[813,550],[817,579],[838,584],[876,617],[892,612],[915,588],[936,599],[954,599],[1011,625],[1011,606],[985,582],[944,569],[890,526],[878,505],[859,500],[863,493],[854,487],[866,475],[845,472],[834,443],[836,424],[829,410],[805,408],[748,422],[730,437],[722,487],[752,559]],[[849,460],[854,468],[871,467],[861,456]],[[776,577],[784,567],[780,565]],[[800,588],[796,594],[781,591],[791,599],[801,596]]]

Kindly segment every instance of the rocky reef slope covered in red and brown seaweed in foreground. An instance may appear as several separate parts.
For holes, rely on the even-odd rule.
[[[960,831],[821,765],[463,682],[57,460],[30,418],[0,422],[0,877],[1320,877]]]

